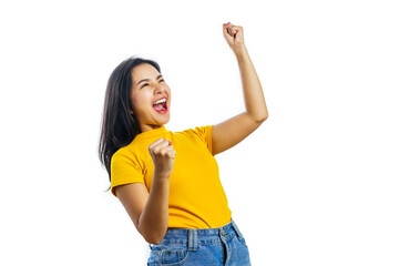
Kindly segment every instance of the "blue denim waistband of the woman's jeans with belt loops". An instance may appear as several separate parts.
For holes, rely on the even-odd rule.
[[[167,228],[166,234],[158,245],[150,245],[151,249],[156,249],[164,245],[187,245],[188,250],[196,250],[198,245],[209,245],[219,242],[227,242],[237,236],[243,238],[237,225],[232,221],[217,228]]]

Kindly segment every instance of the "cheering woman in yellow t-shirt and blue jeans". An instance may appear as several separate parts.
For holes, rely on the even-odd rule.
[[[219,124],[167,131],[171,89],[152,60],[130,58],[109,79],[100,158],[112,194],[149,243],[149,265],[250,265],[214,155],[268,113],[243,27],[228,22],[223,34],[238,62],[246,111]]]

